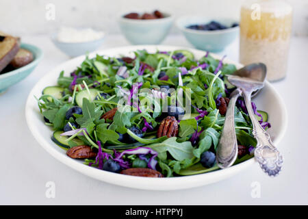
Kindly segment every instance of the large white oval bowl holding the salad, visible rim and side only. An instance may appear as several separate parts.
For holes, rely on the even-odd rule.
[[[140,46],[129,46],[120,47],[114,49],[107,49],[102,51],[96,51],[90,53],[89,57],[94,57],[97,53],[99,55],[133,55],[131,51],[136,51],[136,49],[146,49],[149,52],[160,51],[172,51],[177,49],[188,49],[194,53],[196,58],[200,58],[205,55],[204,51],[199,51],[196,49],[183,48],[183,47],[172,47],[164,45],[140,45]],[[213,57],[220,59],[219,55],[211,54]],[[53,157],[58,159],[60,162],[70,166],[74,170],[81,172],[88,177],[98,179],[100,181],[105,181],[107,183],[112,183],[115,185],[121,185],[129,188],[137,188],[143,190],[180,190],[187,188],[194,188],[201,185],[207,185],[209,183],[215,183],[222,179],[226,179],[235,175],[236,173],[248,168],[252,164],[255,164],[255,159],[251,158],[235,166],[224,170],[216,170],[214,172],[207,172],[200,175],[191,175],[184,177],[170,177],[170,178],[149,178],[149,177],[133,177],[129,175],[121,175],[114,172],[107,172],[105,170],[99,170],[98,168],[93,168],[83,164],[82,161],[77,159],[72,159],[66,155],[66,151],[57,146],[51,141],[51,135],[53,133],[50,127],[44,125],[44,120],[39,112],[38,104],[34,96],[39,97],[42,94],[42,90],[51,85],[57,83],[57,77],[61,70],[64,70],[65,75],[75,70],[76,66],[79,66],[81,62],[85,59],[85,55],[74,58],[60,64],[53,70],[51,70],[47,75],[42,77],[36,86],[29,93],[26,107],[25,116],[27,120],[27,125],[33,134],[34,138],[39,142],[39,144]],[[232,62],[231,60],[225,59],[225,63],[233,63],[237,68],[242,67],[241,64]],[[268,130],[272,136],[274,144],[277,146],[283,138],[287,127],[287,112],[281,96],[274,90],[273,86],[266,81],[266,86],[259,92],[259,94],[253,100],[255,101],[259,110],[264,110],[269,114],[269,122],[272,127]]]

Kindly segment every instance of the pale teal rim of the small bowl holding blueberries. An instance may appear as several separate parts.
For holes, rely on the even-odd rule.
[[[197,30],[197,29],[188,29],[187,27],[183,27],[182,25],[179,25],[179,22],[185,18],[191,18],[191,17],[198,17],[198,18],[209,18],[209,20],[215,20],[219,18],[211,18],[209,16],[181,16],[180,18],[177,18],[177,21],[175,21],[175,25],[177,26],[178,29],[181,31],[188,32],[190,34],[199,34],[199,35],[210,35],[210,34],[225,34],[233,31],[238,31],[240,29],[240,26],[237,27],[229,27],[227,29],[217,29],[217,30]],[[234,18],[223,18],[223,19],[228,19],[230,21],[238,22]]]

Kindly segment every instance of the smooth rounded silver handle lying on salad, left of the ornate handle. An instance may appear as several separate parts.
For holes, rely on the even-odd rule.
[[[236,140],[234,109],[238,97],[242,94],[240,89],[231,93],[231,100],[227,107],[227,113],[224,117],[224,127],[216,151],[216,162],[220,168],[232,166],[238,157],[238,141]]]

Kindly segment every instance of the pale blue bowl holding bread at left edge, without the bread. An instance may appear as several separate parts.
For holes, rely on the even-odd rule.
[[[10,86],[25,79],[25,77],[30,75],[32,70],[36,68],[40,60],[42,60],[43,52],[38,47],[31,44],[22,43],[21,48],[31,51],[34,60],[21,68],[17,68],[16,70],[11,70],[8,73],[0,74],[0,93],[8,89]]]

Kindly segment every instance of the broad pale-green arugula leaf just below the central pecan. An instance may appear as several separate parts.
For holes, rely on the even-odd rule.
[[[177,161],[182,161],[183,159],[191,159],[194,157],[192,154],[193,147],[191,142],[177,142],[177,137],[168,138],[164,142],[151,144],[149,147],[157,151],[160,156],[166,157],[166,152],[168,151],[170,155]]]

